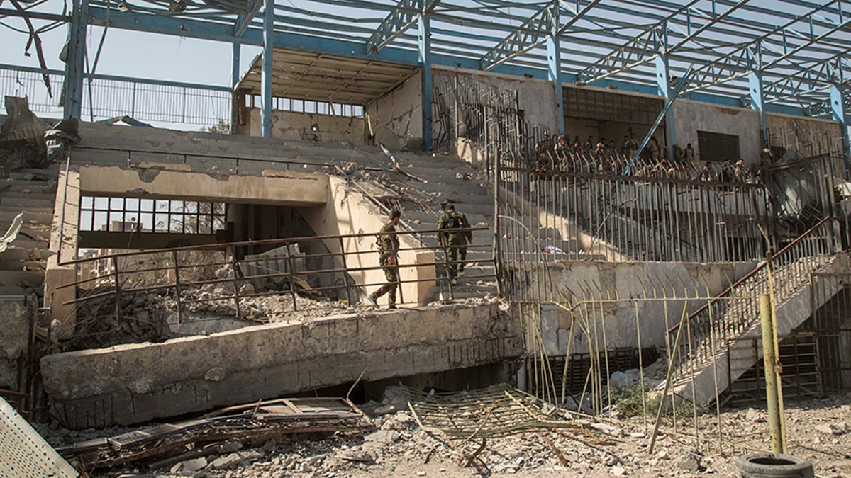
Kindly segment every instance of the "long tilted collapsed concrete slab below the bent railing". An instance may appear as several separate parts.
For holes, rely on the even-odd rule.
[[[43,357],[69,428],[137,424],[363,379],[475,367],[523,352],[497,304],[333,316]]]

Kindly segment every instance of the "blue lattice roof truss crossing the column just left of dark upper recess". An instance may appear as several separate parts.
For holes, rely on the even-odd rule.
[[[547,3],[544,8],[538,10],[531,18],[526,20],[523,25],[503,38],[500,43],[497,43],[494,48],[491,48],[488,53],[482,57],[481,68],[484,71],[493,70],[494,67],[502,65],[508,60],[523,54],[532,48],[545,43],[547,37],[551,34],[559,36],[563,31],[567,31],[570,26],[579,21],[591,9],[597,6],[601,0],[576,0],[576,9],[568,10],[571,15],[570,19],[562,26],[559,25],[559,9],[561,1],[552,0]],[[580,9],[580,5],[584,6]]]

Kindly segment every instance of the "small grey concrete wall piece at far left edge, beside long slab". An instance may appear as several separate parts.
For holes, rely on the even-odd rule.
[[[0,389],[18,390],[18,366],[29,344],[30,312],[24,296],[0,296]]]

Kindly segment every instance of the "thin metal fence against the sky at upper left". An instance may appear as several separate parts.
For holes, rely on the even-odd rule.
[[[50,90],[43,77],[49,77]],[[0,65],[0,93],[26,96],[30,109],[61,114],[65,72]],[[230,88],[156,80],[89,76],[83,80],[83,117],[129,116],[146,122],[214,126],[231,121]]]

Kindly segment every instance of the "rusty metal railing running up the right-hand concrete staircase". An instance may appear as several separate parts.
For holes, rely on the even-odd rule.
[[[775,307],[807,287],[811,276],[825,270],[839,252],[841,242],[837,242],[837,235],[843,220],[821,219],[770,257],[770,267],[769,261],[762,261],[715,299],[689,314],[683,322],[686,328],[674,360],[675,378],[693,378],[695,370],[717,360],[730,341],[760,322],[758,297],[772,292],[769,274],[774,283]],[[669,347],[673,346],[679,327],[677,324],[668,330]]]

